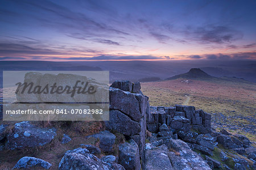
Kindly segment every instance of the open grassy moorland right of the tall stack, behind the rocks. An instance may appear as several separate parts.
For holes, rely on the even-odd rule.
[[[175,104],[194,105],[209,113],[222,113],[226,118],[216,117],[217,122],[229,125],[251,125],[250,117],[255,118],[256,84],[238,79],[167,80],[145,82],[142,92],[150,98],[150,105],[172,106]],[[231,117],[235,116],[235,117]],[[237,118],[244,116],[245,118]],[[214,116],[213,116],[214,117]],[[225,126],[224,125],[224,126]],[[256,141],[253,134],[238,128],[236,133],[247,135]]]

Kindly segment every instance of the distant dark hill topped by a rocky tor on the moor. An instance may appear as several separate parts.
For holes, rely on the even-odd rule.
[[[184,78],[184,79],[209,79],[214,78],[213,76],[210,76],[209,74],[205,73],[201,69],[193,68],[188,71],[188,73],[179,74],[172,76],[171,78],[167,78],[167,80],[174,80],[178,78]]]

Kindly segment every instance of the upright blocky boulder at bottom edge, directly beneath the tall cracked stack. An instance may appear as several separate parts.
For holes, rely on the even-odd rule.
[[[121,164],[126,170],[141,169],[139,147],[133,139],[119,145],[118,163]]]

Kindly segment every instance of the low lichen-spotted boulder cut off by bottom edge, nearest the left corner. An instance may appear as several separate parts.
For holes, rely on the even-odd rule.
[[[30,168],[51,168],[52,164],[39,158],[34,158],[30,156],[24,156],[21,158],[14,166],[14,169],[30,169]]]

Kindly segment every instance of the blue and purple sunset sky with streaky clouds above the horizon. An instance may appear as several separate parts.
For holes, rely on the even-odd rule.
[[[256,1],[2,1],[0,61],[256,59]]]

